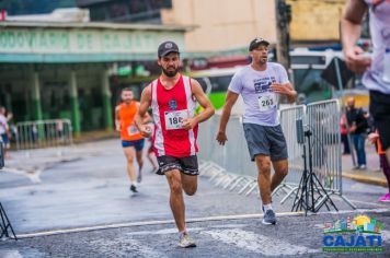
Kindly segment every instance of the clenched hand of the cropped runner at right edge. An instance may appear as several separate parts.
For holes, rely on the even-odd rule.
[[[357,73],[364,73],[371,66],[371,58],[363,55],[358,46],[345,51],[345,63],[347,68]]]

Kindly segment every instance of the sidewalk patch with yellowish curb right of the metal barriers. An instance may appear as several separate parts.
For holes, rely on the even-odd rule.
[[[354,169],[351,155],[343,155],[343,177],[365,184],[387,187],[387,180],[379,165],[379,156],[371,144],[366,144],[367,169]]]

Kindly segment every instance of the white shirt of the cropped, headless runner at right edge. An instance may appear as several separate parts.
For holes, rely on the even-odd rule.
[[[390,1],[365,0],[374,45],[372,63],[363,77],[367,89],[390,94]],[[375,4],[375,2],[378,2]]]

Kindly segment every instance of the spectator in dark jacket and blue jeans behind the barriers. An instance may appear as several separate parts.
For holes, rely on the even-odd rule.
[[[355,98],[349,97],[346,107],[346,119],[349,126],[352,142],[357,155],[357,165],[360,169],[366,169],[365,141],[367,137],[368,122],[362,108],[355,107]]]

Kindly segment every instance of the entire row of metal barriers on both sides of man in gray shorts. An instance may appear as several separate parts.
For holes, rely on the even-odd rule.
[[[320,179],[329,195],[340,196],[347,204],[355,208],[343,196],[342,153],[340,134],[341,110],[337,99],[317,102],[307,106],[294,106],[282,109],[280,125],[287,148],[289,173],[273,195],[284,195],[282,203],[294,198],[303,171],[303,148],[297,141],[296,120],[302,119],[305,129],[311,130],[313,173]],[[244,139],[241,117],[230,117],[225,146],[215,138],[220,116],[216,115],[200,124],[198,134],[200,175],[209,178],[216,186],[239,194],[250,195],[257,190],[257,171],[250,161]]]

